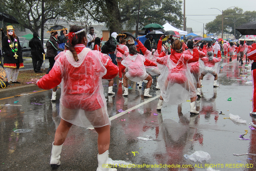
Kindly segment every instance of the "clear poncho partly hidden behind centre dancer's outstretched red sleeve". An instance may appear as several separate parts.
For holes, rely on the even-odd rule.
[[[153,49],[152,51],[154,51],[153,55],[152,55],[152,52],[150,52],[149,50],[146,50],[144,56],[146,59],[156,63],[156,58],[158,57],[158,52],[155,49]],[[146,68],[146,72],[152,76],[160,75],[160,71],[158,70],[157,66],[145,66],[145,68]]]

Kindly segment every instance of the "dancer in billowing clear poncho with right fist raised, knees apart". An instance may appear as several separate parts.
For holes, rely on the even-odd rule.
[[[158,77],[161,96],[156,109],[161,111],[163,100],[170,105],[175,105],[187,101],[190,97],[190,114],[198,114],[195,107],[197,93],[189,69],[189,63],[197,62],[199,59],[197,44],[193,44],[193,55],[183,54],[182,44],[177,39],[172,48],[170,55],[164,56],[162,52],[156,58],[158,69],[161,72]]]

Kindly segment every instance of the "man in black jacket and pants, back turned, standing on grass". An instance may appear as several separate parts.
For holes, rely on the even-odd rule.
[[[29,41],[29,47],[31,48],[32,63],[35,73],[42,72],[41,66],[44,61],[44,47],[41,40],[38,38],[38,33],[33,33],[33,38]]]

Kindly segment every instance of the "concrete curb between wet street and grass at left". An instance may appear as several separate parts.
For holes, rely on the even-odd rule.
[[[35,90],[42,90],[38,88],[36,85],[27,85],[27,86],[19,86],[19,87],[11,87],[8,89],[0,89],[1,98],[11,97],[15,95],[20,95],[21,93],[31,92]]]

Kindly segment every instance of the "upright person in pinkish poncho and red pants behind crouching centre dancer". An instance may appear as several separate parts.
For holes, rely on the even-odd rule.
[[[118,48],[122,49],[123,51],[129,52],[129,49],[126,46],[126,40],[123,38],[120,40],[120,44],[118,45]],[[125,67],[121,64],[123,60],[123,54],[121,54],[121,52],[119,52],[118,50],[115,50],[115,54],[116,54],[115,60],[119,68],[119,80],[122,81],[122,76],[124,75],[124,71],[125,71]]]

